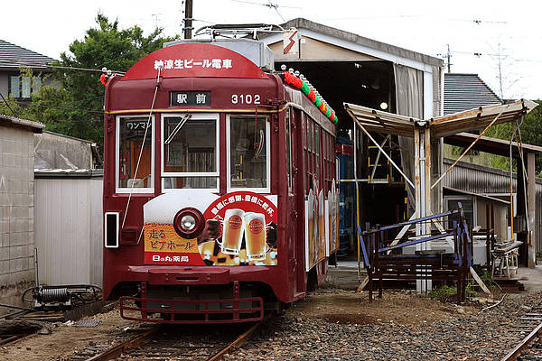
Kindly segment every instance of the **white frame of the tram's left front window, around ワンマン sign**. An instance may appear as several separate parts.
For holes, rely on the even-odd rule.
[[[156,137],[156,115],[151,116],[151,184],[152,187],[137,188],[137,187],[119,187],[118,181],[120,180],[120,170],[118,169],[120,162],[120,120],[122,118],[143,118],[147,120],[149,115],[121,115],[115,119],[115,192],[118,194],[123,193],[154,193],[154,140]],[[138,155],[139,156],[139,155]]]

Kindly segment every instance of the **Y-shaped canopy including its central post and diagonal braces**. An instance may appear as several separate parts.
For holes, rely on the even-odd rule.
[[[519,119],[519,117],[524,116],[533,110],[535,106],[537,106],[537,103],[535,102],[520,99],[505,105],[481,106],[479,108],[448,116],[438,116],[423,120],[409,116],[398,116],[387,112],[381,112],[365,106],[356,106],[350,103],[344,103],[344,108],[352,117],[354,124],[357,125],[360,130],[363,131],[363,133],[367,134],[370,141],[377,146],[379,152],[383,153],[388,160],[390,160],[390,162],[391,158],[389,155],[379,146],[374,138],[370,136],[369,132],[403,135],[414,138],[413,155],[415,184],[413,184],[411,180],[407,179],[405,173],[400,169],[400,167],[397,166],[397,164],[391,162],[392,165],[397,168],[397,171],[400,171],[403,177],[405,177],[406,182],[408,182],[415,189],[415,212],[413,218],[425,218],[433,213],[431,190],[435,188],[439,181],[442,180],[444,176],[453,169],[453,166],[461,160],[464,154],[467,153],[472,146],[474,146],[475,143],[480,140],[481,136],[483,136],[491,125],[513,122]],[[431,139],[476,129],[483,129],[483,131],[480,135],[475,135],[476,138],[463,152],[459,159],[457,159],[452,166],[450,166],[450,168],[444,171],[444,173],[433,183],[433,185],[431,185]],[[354,144],[356,143],[355,134],[356,132],[354,132]],[[356,157],[356,150],[354,151],[354,157]],[[355,166],[354,173],[357,174],[355,171]],[[356,180],[356,192],[358,192],[357,184],[358,182]],[[422,225],[416,226],[416,236],[431,234],[430,223],[425,223],[423,227],[421,226]],[[360,227],[359,223],[358,227]],[[394,240],[394,243],[398,242],[398,239],[405,234],[408,227],[410,227],[410,225],[403,227],[401,232],[399,232],[399,235]],[[392,245],[394,245],[394,243],[392,243]],[[425,244],[422,245],[422,247],[425,247]],[[422,249],[422,247],[420,249]],[[358,252],[358,255],[360,255],[360,252]],[[358,256],[358,260],[360,262],[360,256]],[[430,288],[430,282],[423,283],[422,280],[416,280],[417,292],[424,292]]]

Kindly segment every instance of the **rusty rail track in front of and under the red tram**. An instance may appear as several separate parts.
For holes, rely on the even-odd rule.
[[[156,326],[94,356],[102,345],[82,350],[71,360],[208,360],[217,361],[240,347],[262,322],[252,325]]]

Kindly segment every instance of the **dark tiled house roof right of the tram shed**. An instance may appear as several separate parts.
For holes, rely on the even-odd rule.
[[[478,74],[444,74],[444,116],[492,104],[502,102]]]

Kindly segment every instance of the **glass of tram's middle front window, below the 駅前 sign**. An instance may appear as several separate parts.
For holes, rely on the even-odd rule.
[[[164,189],[217,189],[217,120],[164,116]]]

